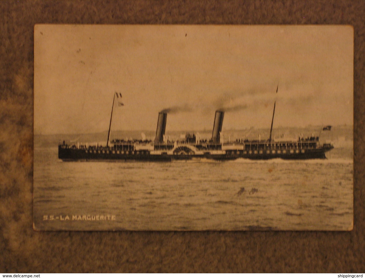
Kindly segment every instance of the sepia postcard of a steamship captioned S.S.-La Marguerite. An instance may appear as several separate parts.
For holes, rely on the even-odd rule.
[[[352,227],[351,26],[35,26],[35,230]]]

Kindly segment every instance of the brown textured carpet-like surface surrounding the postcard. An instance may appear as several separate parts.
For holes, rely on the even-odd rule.
[[[365,1],[0,1],[0,272],[365,272]],[[33,27],[354,26],[351,232],[35,232]]]

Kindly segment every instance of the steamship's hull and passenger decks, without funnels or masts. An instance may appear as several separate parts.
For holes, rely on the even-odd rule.
[[[230,142],[226,144],[123,144],[106,146],[59,145],[58,157],[64,161],[171,161],[191,159],[234,160],[249,158],[266,160],[326,158],[325,153],[333,148],[330,144],[319,145],[318,141],[296,142]]]

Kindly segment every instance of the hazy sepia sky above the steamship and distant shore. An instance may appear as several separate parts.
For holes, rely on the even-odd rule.
[[[352,125],[353,28],[35,26],[35,134],[108,130],[115,92],[114,130]]]

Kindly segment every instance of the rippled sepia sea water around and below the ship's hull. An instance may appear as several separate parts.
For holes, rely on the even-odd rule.
[[[352,149],[334,149],[328,160],[171,163],[62,162],[57,148],[34,149],[40,230],[349,230],[352,223]]]

